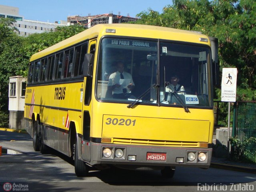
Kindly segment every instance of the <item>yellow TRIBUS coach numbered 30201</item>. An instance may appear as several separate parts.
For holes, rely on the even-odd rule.
[[[31,57],[26,87],[34,150],[73,158],[76,176],[208,168],[212,66],[207,36],[157,26],[98,24],[46,48]]]

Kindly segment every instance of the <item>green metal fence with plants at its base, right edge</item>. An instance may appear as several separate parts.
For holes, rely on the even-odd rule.
[[[233,158],[256,163],[256,101],[234,105],[231,145]]]

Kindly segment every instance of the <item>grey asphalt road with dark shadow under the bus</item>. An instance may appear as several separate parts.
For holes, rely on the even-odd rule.
[[[0,156],[0,191],[9,182],[28,191],[250,191],[256,190],[256,174],[209,168],[176,168],[174,178],[163,178],[159,171],[108,169],[92,170],[78,178],[72,161],[54,150],[34,152],[29,135],[0,131],[0,146],[21,154]],[[212,185],[212,187],[211,187]],[[24,187],[25,186],[25,187]],[[242,188],[244,187],[244,188]],[[13,187],[14,189],[14,187]],[[12,189],[12,190],[13,190]],[[209,190],[208,190],[209,189]],[[237,190],[236,190],[237,189]],[[20,190],[21,191],[21,190]]]

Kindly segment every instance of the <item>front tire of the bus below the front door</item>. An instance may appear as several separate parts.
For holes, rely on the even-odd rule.
[[[74,144],[74,166],[75,173],[78,177],[85,177],[88,174],[88,166],[82,160],[78,159],[78,141]]]

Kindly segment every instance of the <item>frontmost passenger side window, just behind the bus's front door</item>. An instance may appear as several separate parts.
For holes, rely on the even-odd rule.
[[[76,58],[74,64],[73,76],[79,76],[83,74],[83,61],[84,55],[87,52],[88,44],[82,44],[76,47]]]

